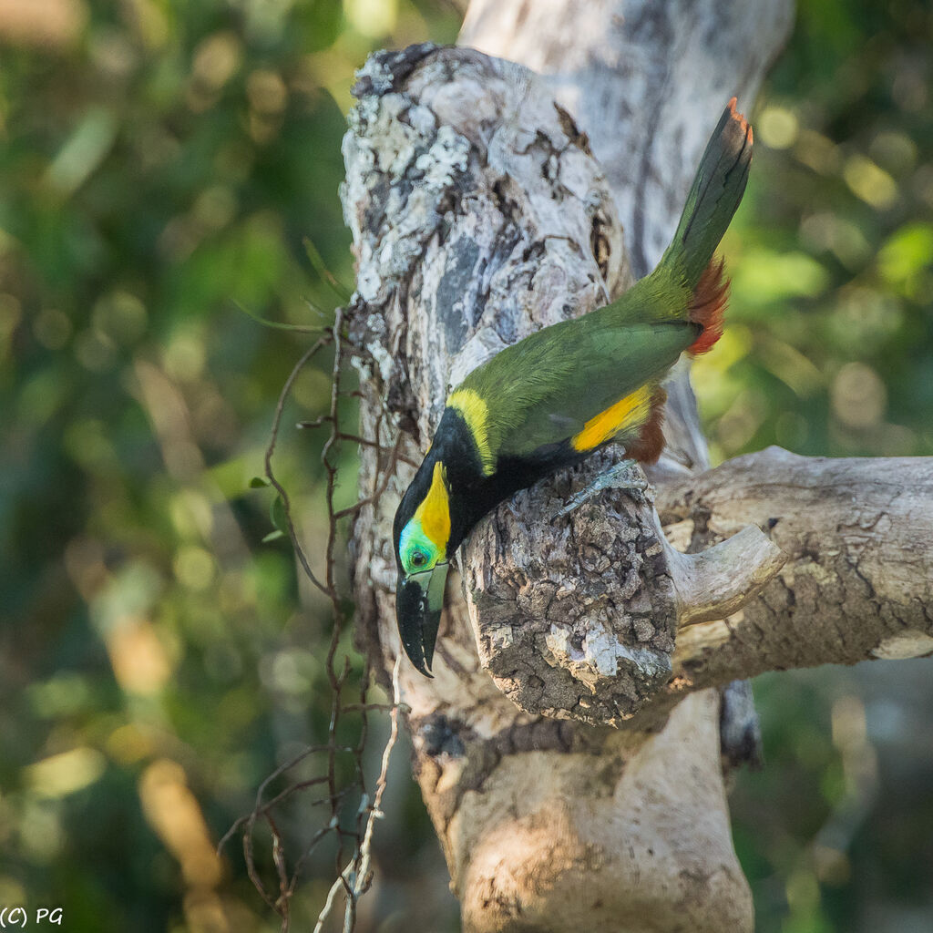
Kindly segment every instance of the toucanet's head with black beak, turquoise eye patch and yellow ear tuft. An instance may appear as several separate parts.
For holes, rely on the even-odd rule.
[[[444,605],[451,541],[451,493],[442,461],[428,454],[396,512],[396,617],[411,663],[430,676]]]

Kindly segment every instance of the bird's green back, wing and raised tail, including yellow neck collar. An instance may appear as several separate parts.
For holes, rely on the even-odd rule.
[[[530,455],[573,439],[601,413],[582,439],[599,435],[617,415],[633,429],[643,424],[648,409],[660,409],[658,386],[677,357],[716,342],[728,282],[712,259],[742,200],[751,146],[733,97],[658,268],[606,307],[506,347],[454,390],[448,405],[469,425],[485,476],[501,454]],[[625,411],[610,413],[620,405]]]

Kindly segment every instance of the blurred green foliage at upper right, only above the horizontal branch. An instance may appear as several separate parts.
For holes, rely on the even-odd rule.
[[[717,459],[933,453],[931,50],[924,3],[799,4],[695,369]]]

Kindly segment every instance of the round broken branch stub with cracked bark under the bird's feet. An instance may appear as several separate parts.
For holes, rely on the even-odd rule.
[[[671,675],[677,598],[648,496],[610,487],[559,514],[618,456],[518,494],[462,551],[480,662],[526,712],[619,726]]]

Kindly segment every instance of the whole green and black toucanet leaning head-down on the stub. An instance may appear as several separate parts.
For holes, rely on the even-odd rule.
[[[661,455],[661,383],[682,353],[705,353],[722,333],[729,282],[713,254],[751,157],[752,131],[733,97],[654,272],[606,307],[506,347],[448,397],[393,529],[398,632],[422,674],[430,676],[448,564],[483,515],[609,442],[641,463]]]

